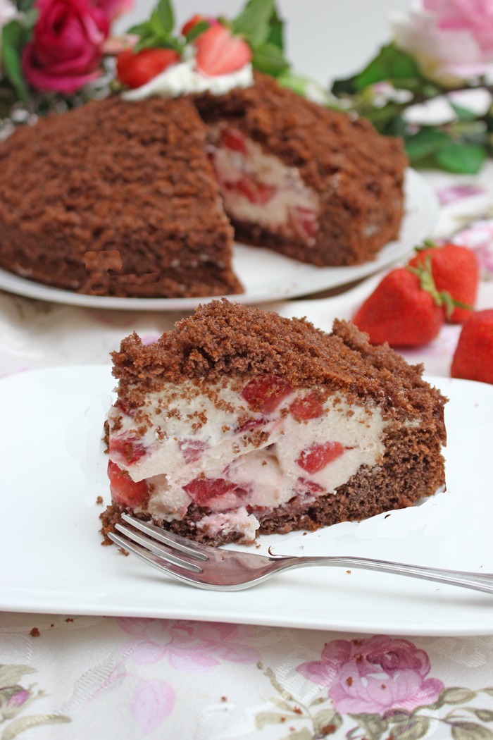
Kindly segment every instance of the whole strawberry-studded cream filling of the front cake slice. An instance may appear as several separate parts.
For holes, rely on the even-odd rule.
[[[374,404],[324,398],[279,378],[170,383],[131,413],[112,407],[110,465],[131,489],[114,483],[112,496],[158,522],[183,519],[194,503],[204,511],[197,527],[253,539],[256,511],[334,494],[362,465],[378,465],[386,425]]]

